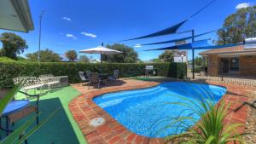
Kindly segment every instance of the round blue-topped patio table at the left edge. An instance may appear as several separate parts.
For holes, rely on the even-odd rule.
[[[6,118],[6,129],[2,127],[2,123],[0,124],[0,129],[6,131],[7,135],[9,134],[9,124],[8,124],[8,116],[9,114],[19,112],[20,110],[26,108],[29,105],[29,101],[27,100],[14,100],[10,101],[7,107],[4,108],[1,118]],[[1,120],[0,120],[1,122]]]

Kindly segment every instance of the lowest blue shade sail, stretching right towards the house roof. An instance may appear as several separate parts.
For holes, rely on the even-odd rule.
[[[207,40],[196,41],[194,43],[187,43],[181,45],[175,45],[166,48],[160,49],[148,49],[144,51],[152,51],[152,50],[172,50],[172,49],[221,49],[226,47],[234,47],[237,45],[243,45],[244,43],[236,43],[236,44],[224,44],[224,45],[211,45],[207,42]]]

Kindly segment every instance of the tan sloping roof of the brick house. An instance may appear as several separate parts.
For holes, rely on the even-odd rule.
[[[221,49],[212,49],[212,50],[207,50],[201,52],[199,55],[218,55],[218,54],[234,54],[234,53],[251,53],[255,52],[256,53],[256,48],[255,49],[244,49],[244,45],[237,45],[233,47],[226,47],[226,48],[221,48]]]

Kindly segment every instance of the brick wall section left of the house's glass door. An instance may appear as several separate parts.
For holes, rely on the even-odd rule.
[[[207,73],[209,76],[218,76],[218,55],[208,55],[208,69]]]

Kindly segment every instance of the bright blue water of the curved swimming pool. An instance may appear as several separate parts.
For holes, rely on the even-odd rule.
[[[192,101],[217,103],[225,92],[224,87],[215,85],[169,82],[148,89],[99,95],[93,101],[137,135],[165,137],[183,132],[182,124],[167,127],[173,118],[192,116],[199,119],[187,107],[168,102],[188,102],[180,97],[183,96]],[[195,121],[184,120],[184,123],[192,125]]]

